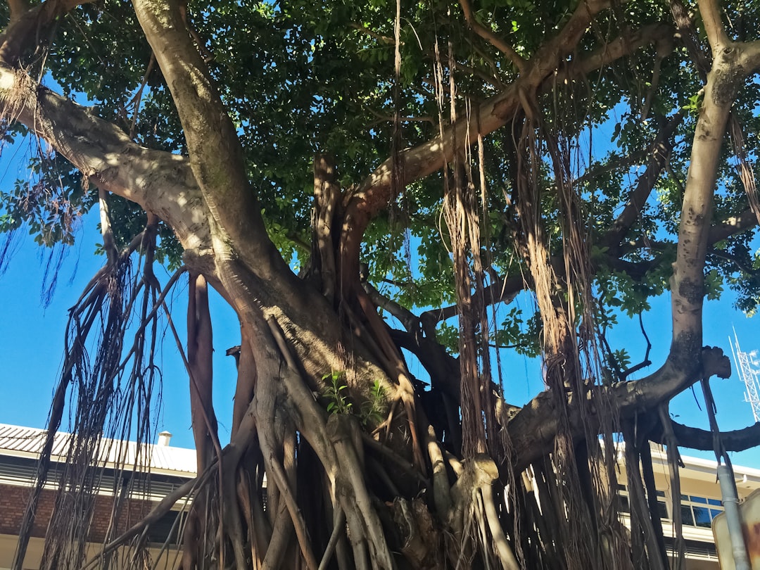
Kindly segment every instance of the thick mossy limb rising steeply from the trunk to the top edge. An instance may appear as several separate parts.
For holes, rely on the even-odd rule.
[[[325,298],[296,277],[269,239],[235,127],[185,30],[177,0],[135,0],[134,5],[182,122],[189,163],[207,207],[200,215],[211,226],[207,244],[214,251],[215,278],[241,319],[277,315],[299,356],[325,369],[322,359],[333,354],[325,347],[336,346],[344,331]],[[322,350],[306,340],[306,330],[320,335]]]

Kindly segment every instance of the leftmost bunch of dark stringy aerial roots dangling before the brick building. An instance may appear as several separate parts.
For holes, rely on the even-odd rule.
[[[59,493],[56,508],[48,527],[43,567],[55,565],[68,568],[81,565],[86,553],[90,516],[94,507],[93,481],[102,468],[95,458],[109,453],[111,440],[122,440],[137,426],[138,445],[150,435],[150,401],[157,367],[153,360],[155,315],[148,315],[150,299],[155,299],[154,287],[144,287],[144,280],[132,280],[131,254],[145,246],[146,263],[154,241],[149,235],[154,224],[149,220],[144,231],[122,251],[117,252],[110,233],[110,220],[105,195],[100,195],[104,244],[108,244],[106,265],[87,283],[76,305],[71,309],[65,338],[65,360],[59,385],[49,415],[49,429],[43,445],[35,490],[22,521],[14,568],[21,568],[26,554],[36,501],[46,483],[52,451],[52,438],[59,430],[67,394],[74,407],[74,426],[67,450],[67,461],[60,486],[70,492]],[[138,302],[142,295],[142,302]],[[135,335],[135,343],[122,359],[123,343],[131,333],[130,316],[137,313],[141,331],[153,327],[145,335]],[[90,352],[90,345],[94,349]],[[90,356],[90,354],[92,356]],[[129,366],[131,362],[131,366]],[[70,393],[70,394],[69,394]],[[135,417],[135,406],[137,416]],[[106,435],[109,439],[104,439]],[[104,446],[106,446],[104,448]],[[136,467],[136,466],[135,466]],[[119,470],[123,470],[120,466]],[[131,492],[134,479],[128,483]],[[121,512],[124,493],[114,499],[112,515]],[[78,524],[71,525],[68,513],[81,513]],[[106,540],[117,530],[111,521]],[[71,531],[71,532],[69,532]],[[61,540],[68,534],[68,540]],[[107,557],[106,557],[107,558]]]

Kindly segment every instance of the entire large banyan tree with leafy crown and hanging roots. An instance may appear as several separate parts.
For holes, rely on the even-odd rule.
[[[199,473],[183,489],[184,570],[667,567],[649,442],[674,467],[678,445],[711,445],[668,402],[697,382],[709,401],[709,378],[730,374],[703,346],[705,297],[730,288],[747,314],[760,302],[760,8],[4,10],[5,141],[40,146],[33,176],[0,193],[0,229],[65,247],[97,208],[103,233],[51,408],[52,434],[71,404],[78,439],[46,568],[84,563],[87,517],[65,513],[91,512],[100,437],[151,439],[158,322],[181,279]],[[166,283],[156,264],[174,272]],[[207,284],[241,325],[229,444],[211,402]],[[670,354],[632,380],[641,367],[607,334],[665,294]],[[505,351],[542,359],[545,390],[524,406]],[[756,431],[724,434],[716,452]],[[630,530],[613,484],[622,441]],[[92,563],[147,556],[143,530],[170,507],[114,524]]]

